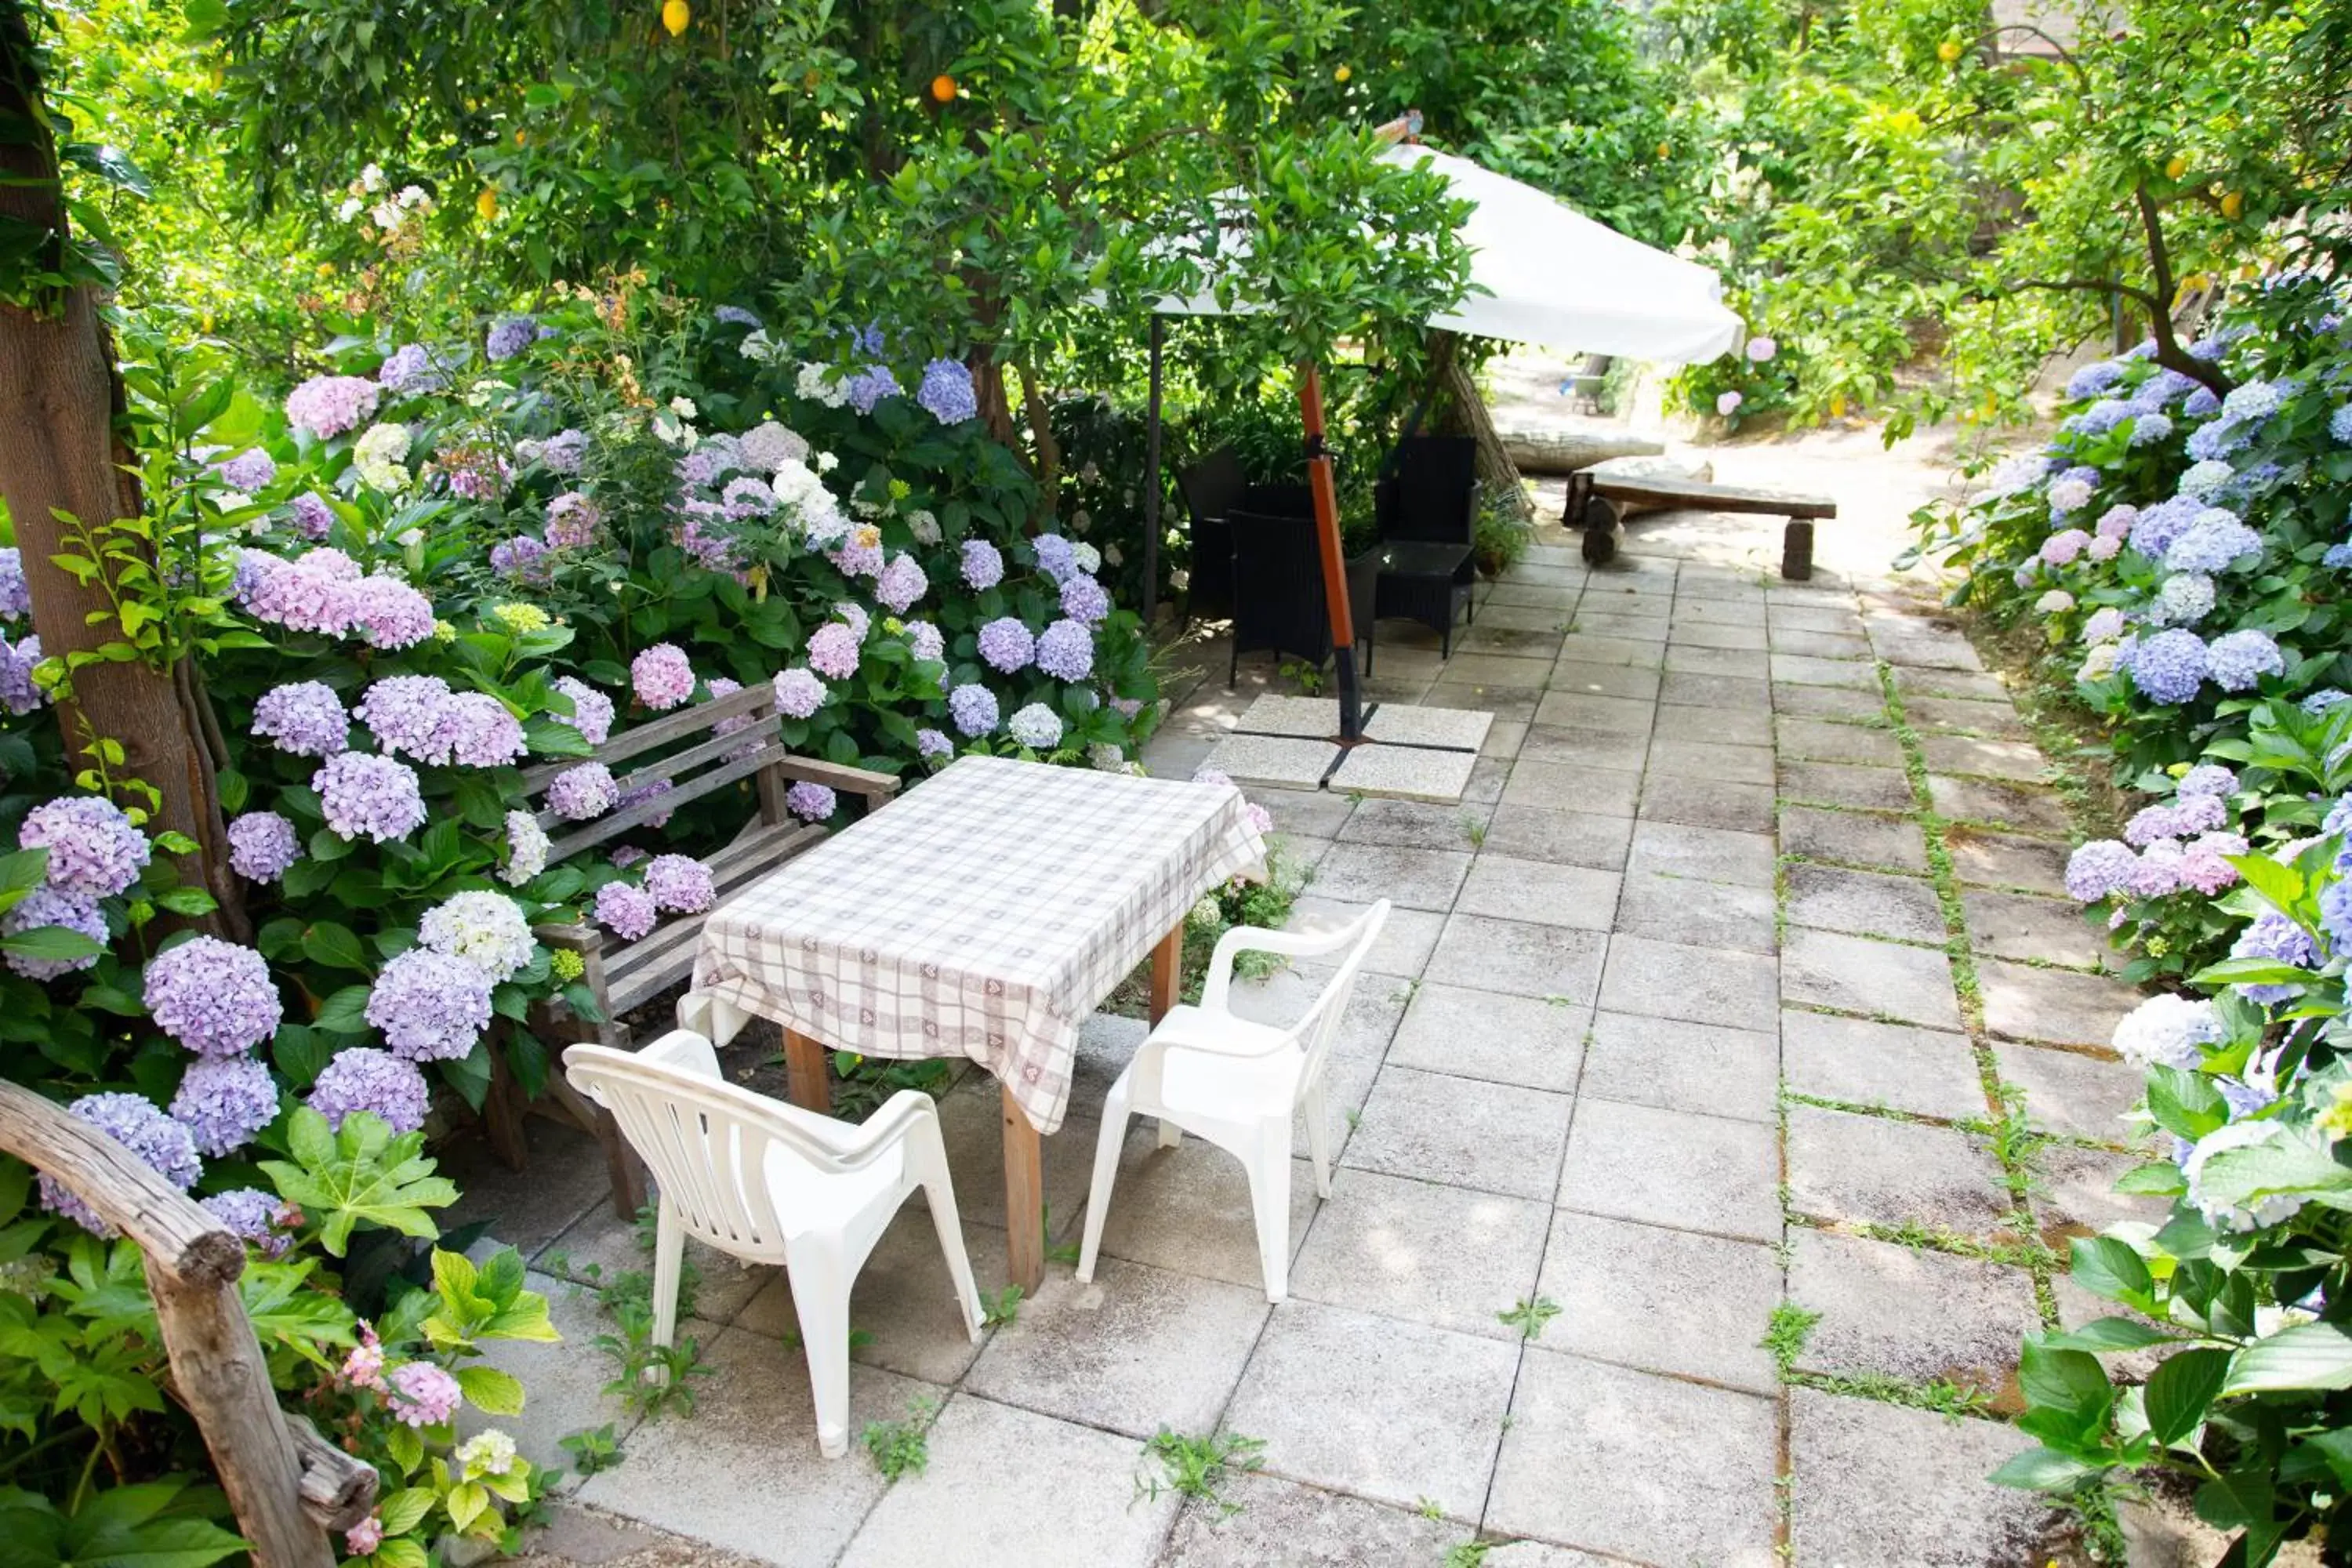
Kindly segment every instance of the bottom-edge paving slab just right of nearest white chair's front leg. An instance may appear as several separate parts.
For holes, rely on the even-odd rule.
[[[1127,1436],[957,1394],[931,1422],[929,1448],[922,1472],[875,1505],[840,1568],[938,1568],[950,1540],[957,1568],[1145,1568],[1176,1521],[1176,1493],[1138,1495],[1150,1472]],[[880,1481],[873,1465],[858,1469]],[[774,1486],[746,1479],[746,1490]]]

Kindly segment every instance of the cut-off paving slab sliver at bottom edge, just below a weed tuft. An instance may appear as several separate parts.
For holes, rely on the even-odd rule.
[[[1232,1514],[1190,1500],[1176,1519],[1160,1568],[1367,1568],[1369,1563],[1442,1563],[1463,1528],[1327,1493],[1275,1476],[1232,1476],[1221,1495]],[[1486,1554],[1494,1563],[1496,1554]]]

